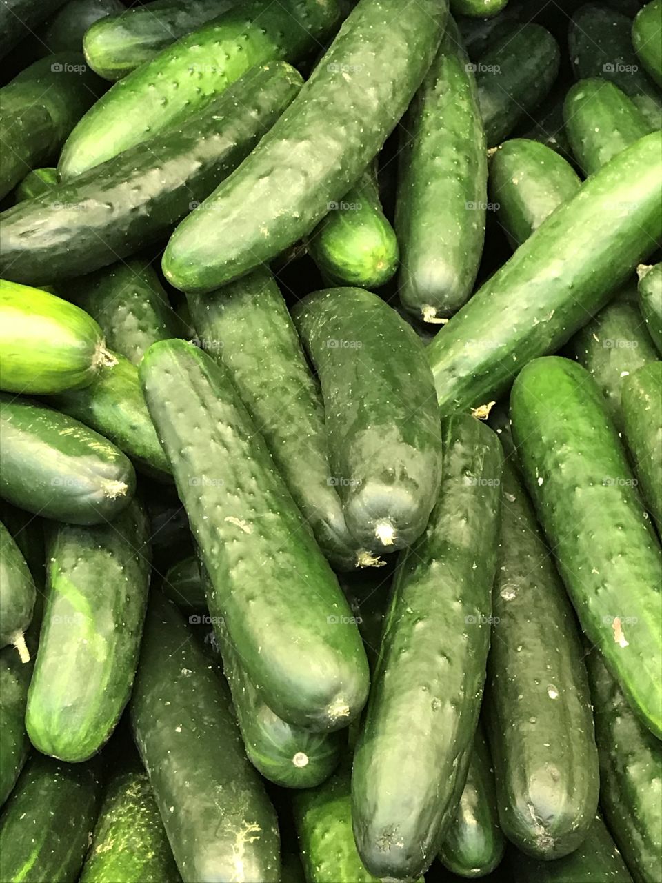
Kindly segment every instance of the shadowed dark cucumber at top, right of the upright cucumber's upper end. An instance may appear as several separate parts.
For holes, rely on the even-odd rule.
[[[559,64],[560,50],[552,34],[530,22],[513,26],[488,46],[476,64],[487,147],[500,144],[545,98]]]

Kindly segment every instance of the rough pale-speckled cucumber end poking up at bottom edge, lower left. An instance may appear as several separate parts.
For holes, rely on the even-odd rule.
[[[132,758],[110,776],[79,883],[179,879],[147,773]]]

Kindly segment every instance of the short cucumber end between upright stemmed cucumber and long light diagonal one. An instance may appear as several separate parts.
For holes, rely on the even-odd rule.
[[[490,200],[514,249],[581,185],[570,163],[539,141],[504,141],[490,160]]]

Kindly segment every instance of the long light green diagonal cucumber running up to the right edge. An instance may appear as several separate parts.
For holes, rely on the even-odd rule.
[[[531,358],[556,351],[662,238],[662,135],[591,176],[448,322],[427,355],[440,411],[508,389]]]

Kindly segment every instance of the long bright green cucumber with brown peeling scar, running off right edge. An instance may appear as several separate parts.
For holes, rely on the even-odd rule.
[[[526,485],[582,629],[661,738],[662,553],[600,390],[575,362],[537,358],[515,381],[510,415]]]

